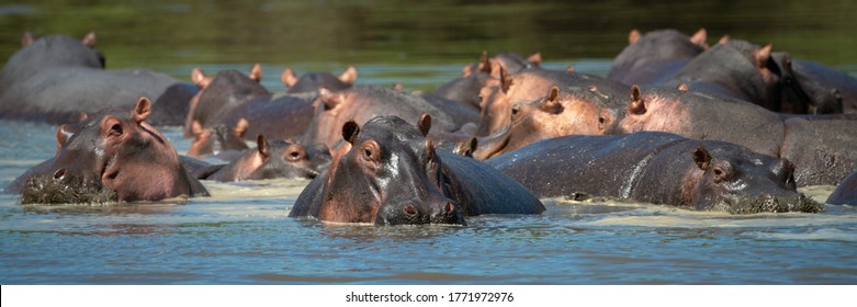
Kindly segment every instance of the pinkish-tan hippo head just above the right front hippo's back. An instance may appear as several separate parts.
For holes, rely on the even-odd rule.
[[[545,138],[610,134],[617,114],[605,107],[604,101],[608,99],[594,86],[570,88],[563,93],[554,86],[540,100],[516,103],[511,109],[511,126],[483,139],[473,157],[484,160]]]

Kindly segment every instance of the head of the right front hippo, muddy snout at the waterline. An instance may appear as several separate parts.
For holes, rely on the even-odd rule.
[[[718,147],[713,152],[700,146],[691,158],[697,180],[685,197],[692,198],[697,209],[732,214],[823,211],[822,205],[796,191],[794,166],[786,159],[734,146]]]

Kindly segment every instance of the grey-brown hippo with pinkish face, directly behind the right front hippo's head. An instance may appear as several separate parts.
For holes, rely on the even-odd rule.
[[[644,92],[634,86],[619,117],[616,133],[668,132],[786,158],[796,164],[798,186],[836,184],[857,161],[857,121],[847,116],[783,117],[712,93],[663,88]]]

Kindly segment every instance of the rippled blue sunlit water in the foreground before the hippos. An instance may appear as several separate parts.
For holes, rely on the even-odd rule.
[[[55,150],[0,122],[0,184]],[[179,151],[179,127],[162,130]],[[204,182],[212,197],[22,206],[0,194],[2,284],[855,284],[857,208],[731,216],[544,200],[467,227],[289,218],[307,181]],[[832,186],[805,190],[825,200]]]

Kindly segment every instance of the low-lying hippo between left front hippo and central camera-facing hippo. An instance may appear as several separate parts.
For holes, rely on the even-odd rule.
[[[216,181],[244,181],[262,179],[314,179],[330,163],[330,155],[324,147],[304,147],[286,140],[267,140],[257,136],[257,147],[245,150],[228,164],[207,168],[194,167],[198,179]]]

